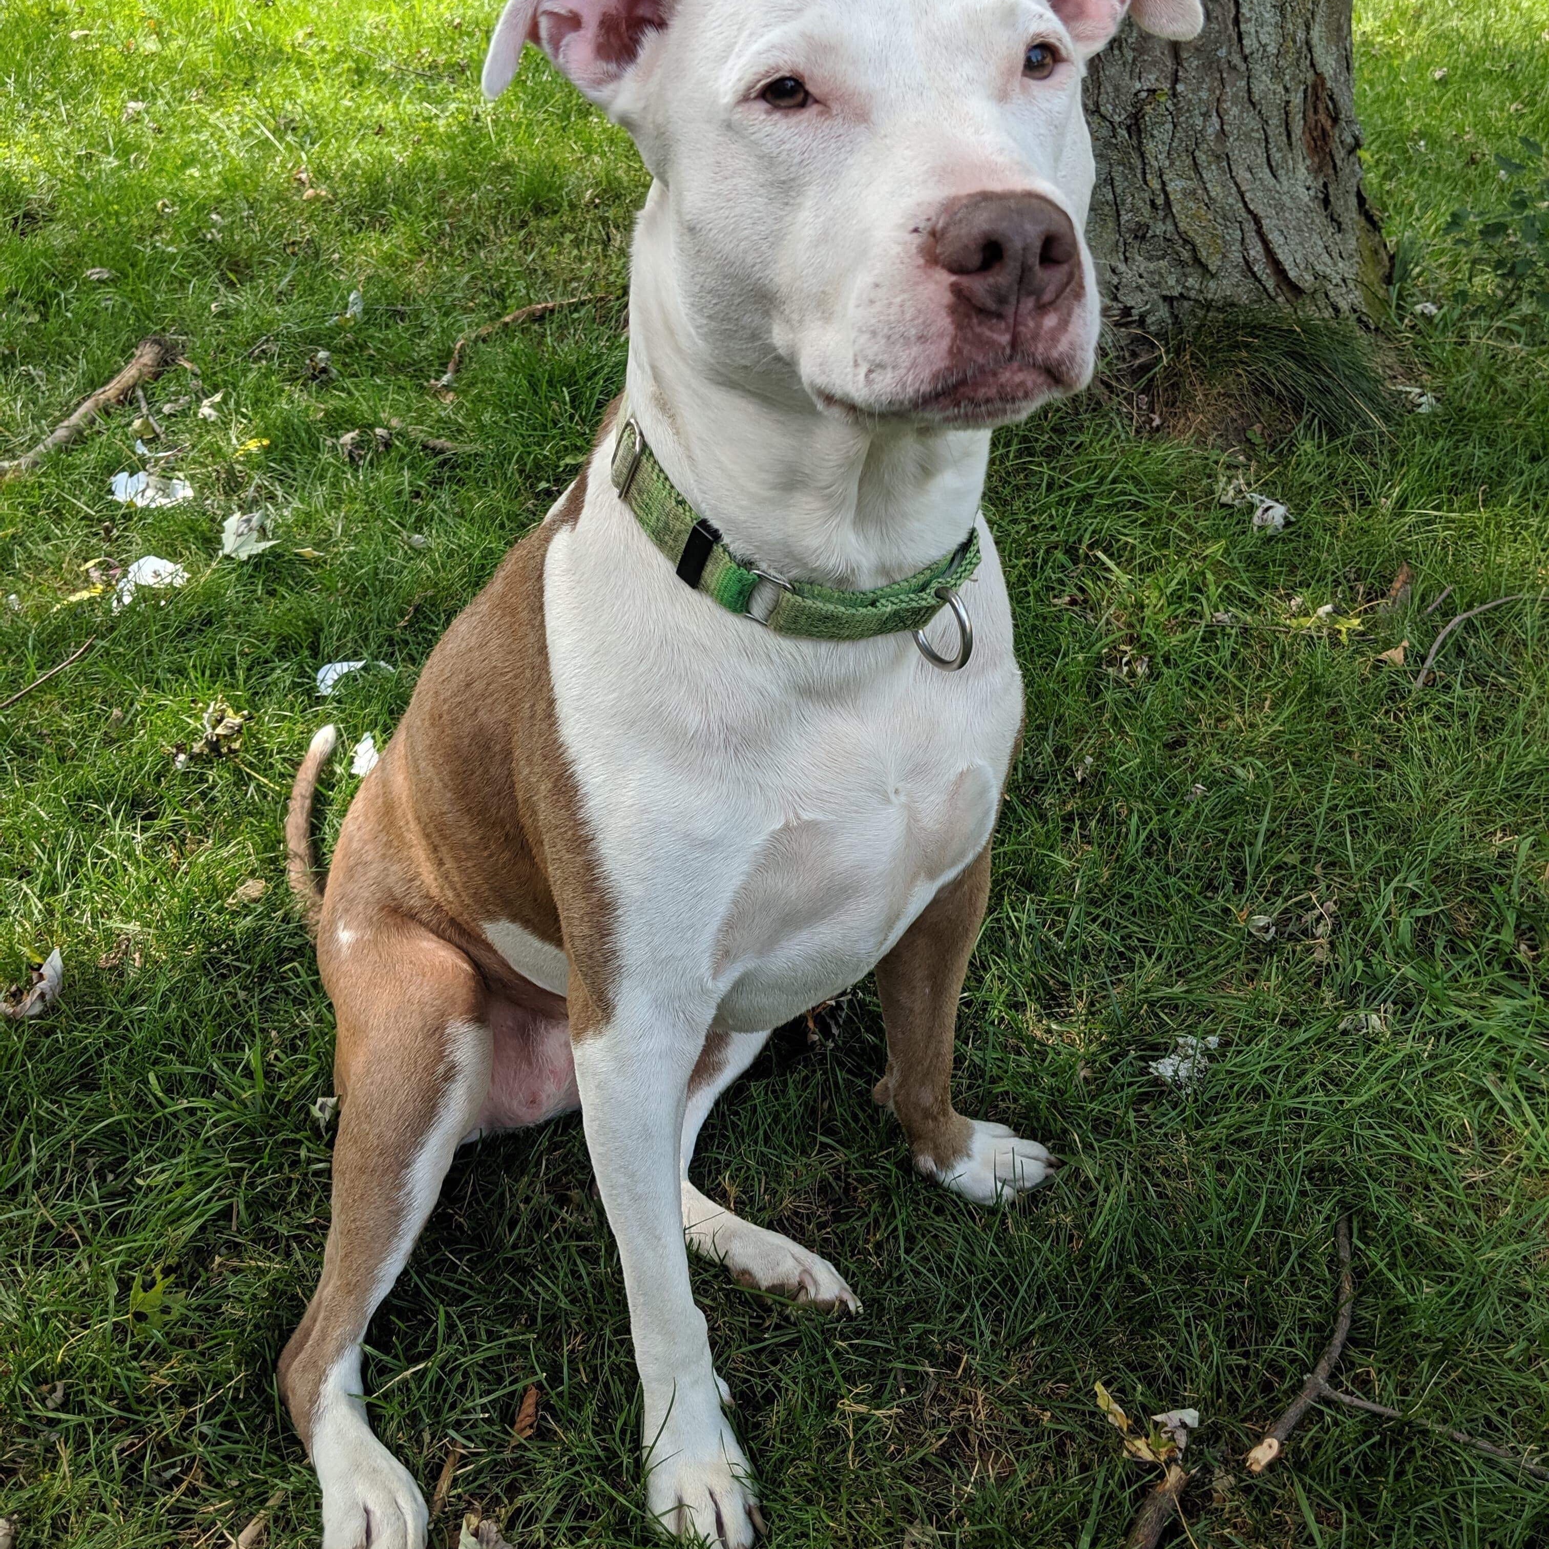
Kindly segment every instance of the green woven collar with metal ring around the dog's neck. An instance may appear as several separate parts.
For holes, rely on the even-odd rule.
[[[728,612],[742,613],[779,635],[871,640],[908,629],[915,632],[915,643],[936,666],[967,663],[973,634],[957,589],[979,565],[977,525],[950,555],[892,586],[841,592],[812,581],[784,581],[736,559],[716,527],[678,494],[646,445],[627,401],[620,401],[618,418],[613,488],[646,536],[696,592],[705,592]],[[956,660],[939,657],[919,634],[943,607],[951,607],[962,637]]]

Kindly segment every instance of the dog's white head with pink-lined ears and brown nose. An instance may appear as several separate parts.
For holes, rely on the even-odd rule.
[[[827,412],[1004,424],[1092,373],[1081,74],[1126,11],[1199,0],[511,0],[499,94],[538,43],[634,136],[644,231],[717,372]]]

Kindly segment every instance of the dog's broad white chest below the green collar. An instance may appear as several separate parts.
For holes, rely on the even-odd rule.
[[[981,640],[959,674],[894,637],[801,643],[833,671],[782,675],[788,643],[765,649],[740,620],[700,651],[685,626],[604,655],[556,592],[556,702],[615,956],[685,1013],[756,1032],[836,994],[988,841],[1021,723],[998,567],[974,587]]]

